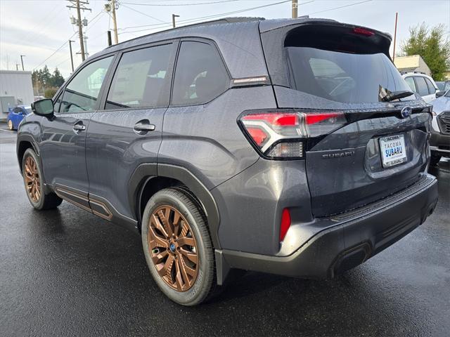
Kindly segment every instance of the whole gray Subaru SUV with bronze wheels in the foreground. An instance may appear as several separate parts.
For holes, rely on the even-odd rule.
[[[230,18],[110,46],[20,124],[28,199],[139,231],[181,305],[239,270],[333,277],[437,204],[431,107],[390,42],[333,20]]]

